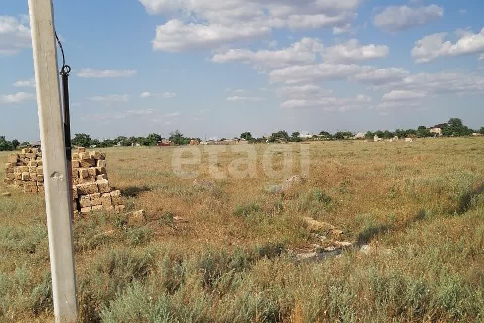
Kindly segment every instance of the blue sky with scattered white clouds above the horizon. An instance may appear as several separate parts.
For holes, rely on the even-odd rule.
[[[72,133],[484,126],[484,3],[54,1]],[[0,8],[0,135],[38,140],[26,0]]]

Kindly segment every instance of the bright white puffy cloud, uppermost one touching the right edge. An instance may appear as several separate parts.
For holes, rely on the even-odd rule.
[[[418,40],[411,55],[416,63],[427,63],[439,57],[470,55],[484,52],[484,28],[477,34],[467,30],[456,32],[460,38],[452,43],[445,41],[447,33],[436,33]]]

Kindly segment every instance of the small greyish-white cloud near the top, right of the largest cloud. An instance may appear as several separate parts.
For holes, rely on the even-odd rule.
[[[444,10],[437,5],[419,8],[391,6],[375,16],[374,24],[385,31],[396,32],[426,25],[443,15]]]

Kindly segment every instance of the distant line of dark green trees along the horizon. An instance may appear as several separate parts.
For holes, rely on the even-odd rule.
[[[470,136],[473,133],[480,133],[484,135],[484,127],[481,127],[479,130],[472,130],[471,128],[465,126],[461,119],[459,118],[451,118],[447,123],[438,125],[442,128],[442,135],[447,137],[463,137],[463,136]],[[298,142],[304,139],[299,138],[299,132],[294,131],[289,135],[289,133],[285,130],[280,130],[278,132],[272,133],[269,137],[260,137],[255,138],[252,136],[250,132],[244,132],[240,134],[241,138],[244,138],[252,143],[263,143],[263,142],[276,142],[279,139],[283,141],[289,142]],[[395,131],[388,131],[388,130],[377,130],[377,131],[368,131],[365,136],[366,137],[374,137],[377,135],[380,138],[392,138],[392,137],[399,137],[399,138],[407,138],[407,137],[432,137],[435,134],[431,133],[426,126],[420,126],[417,129],[396,129]],[[315,135],[319,138],[325,138],[328,140],[339,140],[344,138],[353,137],[354,134],[350,131],[338,131],[334,134],[329,133],[328,131],[321,131],[319,135]],[[105,140],[98,140],[92,139],[88,134],[85,133],[77,133],[74,135],[72,139],[73,145],[84,146],[84,147],[112,147],[116,145],[121,146],[132,146],[132,145],[140,145],[140,146],[156,146],[156,143],[161,141],[163,137],[160,134],[152,133],[147,137],[124,137],[119,136],[113,139],[105,139]],[[190,140],[196,139],[200,141],[200,138],[190,138],[185,137],[179,130],[175,130],[170,132],[170,136],[168,139],[176,144],[176,145],[188,145]],[[224,140],[225,138],[221,139]],[[0,136],[0,151],[5,150],[17,150],[20,146],[26,146],[30,143],[25,141],[20,143],[17,139],[12,141],[8,141],[5,139],[5,136]]]

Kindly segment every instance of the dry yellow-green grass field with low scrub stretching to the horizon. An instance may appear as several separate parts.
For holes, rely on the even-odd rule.
[[[484,139],[280,145],[290,175],[310,152],[306,182],[286,193],[264,175],[270,146],[251,145],[257,176],[245,179],[210,178],[220,148],[195,148],[202,163],[188,167],[211,189],[174,173],[178,147],[104,149],[111,185],[147,220],[74,223],[80,322],[484,322]],[[212,166],[228,174],[243,153],[222,149]],[[6,191],[0,321],[53,321],[43,197]],[[344,234],[316,235],[302,217]],[[370,252],[295,261],[291,251],[327,247],[321,236]]]

